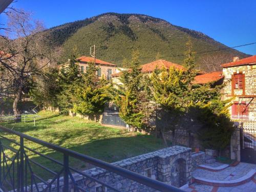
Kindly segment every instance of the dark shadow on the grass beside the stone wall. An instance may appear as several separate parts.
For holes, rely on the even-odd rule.
[[[6,143],[7,144],[7,143]],[[8,144],[10,146],[10,144]],[[39,146],[35,144],[36,147],[32,147],[33,150],[40,152],[48,157],[51,157],[57,161],[63,162],[63,154],[50,150],[47,147]],[[26,144],[25,144],[26,146]],[[115,137],[108,139],[98,139],[91,142],[87,142],[77,146],[68,147],[69,150],[88,155],[106,162],[115,162],[126,158],[131,158],[145,153],[150,153],[160,148],[164,148],[164,143],[160,139],[156,139],[154,136],[150,135],[136,135],[133,137]],[[43,166],[59,172],[61,166],[47,160],[40,156],[31,156],[32,154],[26,150],[26,153],[30,159],[40,163]],[[44,178],[46,180],[52,179],[52,175],[46,170],[39,166],[31,164],[33,172]],[[90,168],[86,162],[74,159],[70,157],[70,166],[76,168],[77,170],[84,170]]]

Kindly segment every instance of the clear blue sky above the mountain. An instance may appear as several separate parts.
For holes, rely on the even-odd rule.
[[[47,28],[105,12],[141,13],[203,32],[229,47],[256,42],[254,0],[18,0],[13,6],[32,11]],[[3,15],[0,15],[0,20],[5,20]],[[256,44],[238,50],[256,55]]]

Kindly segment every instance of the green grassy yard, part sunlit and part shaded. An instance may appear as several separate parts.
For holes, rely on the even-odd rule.
[[[107,162],[118,161],[164,147],[162,140],[156,139],[154,136],[126,132],[121,129],[102,126],[90,120],[63,116],[53,112],[42,111],[38,115],[41,118],[36,120],[35,127],[33,121],[26,123],[0,123],[0,125]],[[15,135],[4,135],[18,140]],[[2,142],[11,145],[4,140]],[[12,146],[15,147],[14,145]],[[62,155],[49,148],[28,140],[25,140],[25,146],[62,162]],[[6,150],[6,153],[11,155],[9,150]],[[28,153],[28,155],[36,162],[52,169],[56,168],[52,162],[47,161],[45,158],[32,153]],[[78,169],[87,166],[74,159],[71,159],[70,163]]]

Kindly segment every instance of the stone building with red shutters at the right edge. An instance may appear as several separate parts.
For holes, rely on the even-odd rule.
[[[223,99],[232,99],[232,119],[255,121],[256,55],[222,65],[224,77]]]

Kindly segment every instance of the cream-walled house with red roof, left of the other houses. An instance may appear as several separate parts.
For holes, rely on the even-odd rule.
[[[98,68],[96,75],[98,76],[98,79],[101,79],[102,76],[104,76],[107,79],[111,78],[111,75],[113,73],[119,72],[117,70],[117,65],[106,62],[100,59],[95,59],[93,57],[87,57],[87,56],[81,56],[76,59],[77,60],[77,65],[79,66],[79,69],[81,70],[82,73],[85,73],[89,63],[90,62],[95,62],[96,67]],[[59,69],[65,69],[70,65],[69,61],[62,63],[61,65],[58,66]]]

